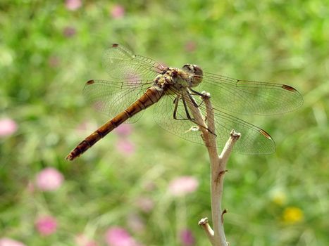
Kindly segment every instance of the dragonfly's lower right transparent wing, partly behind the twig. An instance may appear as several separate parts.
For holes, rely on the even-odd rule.
[[[180,119],[173,119],[173,111],[175,110],[174,98],[175,96],[164,96],[159,103],[154,105],[155,121],[161,128],[170,131],[170,133],[176,136],[180,136],[194,143],[204,144],[200,136],[200,131],[196,131],[197,124],[186,120],[186,111],[182,101],[180,101],[177,107],[176,114],[180,115]],[[201,103],[197,97],[194,97],[194,99],[197,103]],[[199,106],[199,109],[203,115],[206,115],[204,103]],[[190,115],[192,114],[190,113]],[[263,129],[220,110],[214,110],[214,117],[218,147],[224,147],[230,136],[230,131],[235,129],[235,131],[242,134],[242,137],[234,146],[234,150],[237,153],[258,155],[269,154],[275,151],[273,139]]]

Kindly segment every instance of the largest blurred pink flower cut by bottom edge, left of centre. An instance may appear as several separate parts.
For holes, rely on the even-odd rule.
[[[108,246],[140,246],[128,231],[118,226],[106,231],[105,240]]]

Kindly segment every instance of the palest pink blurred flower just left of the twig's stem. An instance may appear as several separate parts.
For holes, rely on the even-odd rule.
[[[197,190],[199,181],[193,176],[181,176],[170,181],[168,190],[172,195],[182,196]]]

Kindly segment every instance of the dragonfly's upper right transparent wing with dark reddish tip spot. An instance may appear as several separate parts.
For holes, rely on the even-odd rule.
[[[204,73],[196,88],[211,94],[215,108],[244,115],[277,115],[299,108],[302,95],[291,86]]]

